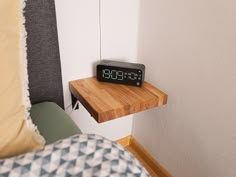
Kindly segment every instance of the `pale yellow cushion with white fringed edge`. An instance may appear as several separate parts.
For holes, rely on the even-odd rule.
[[[30,115],[23,0],[0,1],[0,158],[41,148]]]

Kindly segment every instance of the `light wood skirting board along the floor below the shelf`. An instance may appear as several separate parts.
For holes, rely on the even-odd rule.
[[[131,135],[116,142],[128,149],[152,177],[172,177]]]

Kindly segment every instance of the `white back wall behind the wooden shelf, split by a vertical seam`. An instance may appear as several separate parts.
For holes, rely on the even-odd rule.
[[[71,104],[68,81],[94,75],[99,59],[99,1],[56,0],[59,45],[65,106]],[[102,57],[136,59],[138,2],[102,0]],[[70,106],[67,109],[69,113]],[[71,114],[84,133],[97,133],[110,139],[131,134],[132,115],[98,124],[80,105]]]

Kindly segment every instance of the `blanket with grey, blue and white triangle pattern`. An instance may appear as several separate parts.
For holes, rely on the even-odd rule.
[[[39,151],[0,160],[0,177],[150,177],[119,144],[95,134],[59,140]]]

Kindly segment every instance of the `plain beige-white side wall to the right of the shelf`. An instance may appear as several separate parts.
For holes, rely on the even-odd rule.
[[[236,176],[236,1],[141,0],[139,62],[168,93],[133,135],[176,177]]]

